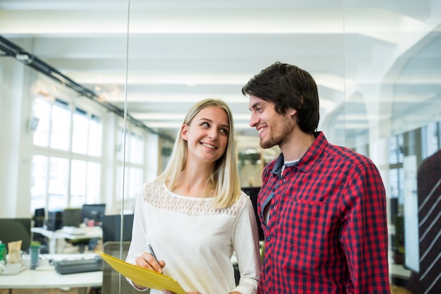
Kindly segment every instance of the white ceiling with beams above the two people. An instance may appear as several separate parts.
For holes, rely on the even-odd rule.
[[[275,61],[293,63],[316,79],[321,129],[333,124],[339,141],[366,132],[374,114],[390,118],[383,103],[406,111],[409,88],[385,97],[385,87],[414,84],[420,62],[434,68],[421,85],[440,94],[440,2],[0,0],[0,35],[111,104],[127,97],[130,116],[169,134],[191,104],[215,97],[230,105],[237,133],[254,135],[242,86]]]

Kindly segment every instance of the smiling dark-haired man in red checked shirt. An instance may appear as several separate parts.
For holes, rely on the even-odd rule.
[[[242,93],[261,147],[281,150],[263,170],[258,197],[258,293],[390,293],[383,181],[371,159],[316,131],[311,75],[277,62]]]

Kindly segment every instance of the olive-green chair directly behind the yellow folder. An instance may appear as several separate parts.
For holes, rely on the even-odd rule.
[[[122,258],[125,260],[127,257],[130,247],[130,242],[123,242],[123,253],[120,257],[120,242],[119,241],[108,241],[104,243],[103,250],[104,253],[111,255],[113,257]],[[121,286],[121,292],[119,292],[119,286]],[[101,288],[101,294],[139,294],[130,283],[125,279],[124,276],[120,275],[118,271],[111,268],[106,262],[103,264],[103,286]],[[142,292],[143,294],[149,294],[150,290]]]

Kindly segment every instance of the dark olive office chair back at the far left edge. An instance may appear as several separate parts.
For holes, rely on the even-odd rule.
[[[27,251],[31,242],[31,219],[0,219],[0,240],[6,244],[13,241],[22,240],[21,250]]]

